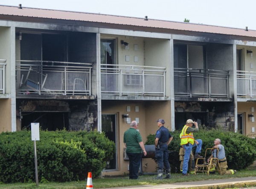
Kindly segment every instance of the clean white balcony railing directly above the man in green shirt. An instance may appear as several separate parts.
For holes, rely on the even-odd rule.
[[[165,97],[165,67],[101,64],[101,93]]]

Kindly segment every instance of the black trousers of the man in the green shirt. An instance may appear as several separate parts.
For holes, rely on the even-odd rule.
[[[129,158],[129,178],[137,179],[139,177],[139,169],[140,169],[140,161],[142,157],[142,153],[134,154],[127,153]]]

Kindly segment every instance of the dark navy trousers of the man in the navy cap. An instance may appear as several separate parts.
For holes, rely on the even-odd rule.
[[[169,153],[168,153],[168,146],[167,144],[161,144],[160,149],[156,149],[155,152],[155,158],[157,159],[157,166],[158,170],[163,171],[163,167],[167,169],[170,169],[170,164],[169,164]]]

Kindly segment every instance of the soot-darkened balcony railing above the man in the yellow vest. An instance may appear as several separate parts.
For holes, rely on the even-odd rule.
[[[228,97],[229,71],[210,69],[174,69],[175,96]]]

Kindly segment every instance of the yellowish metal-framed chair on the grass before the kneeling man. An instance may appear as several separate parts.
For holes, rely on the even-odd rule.
[[[206,173],[209,176],[210,172],[218,171],[221,175],[221,170],[217,169],[219,167],[218,158],[211,158],[210,162],[207,163],[207,156],[214,150],[213,148],[207,148],[205,151],[205,156],[203,158],[197,158],[195,162],[195,174],[197,172]],[[217,149],[217,157],[218,157],[218,149]]]

